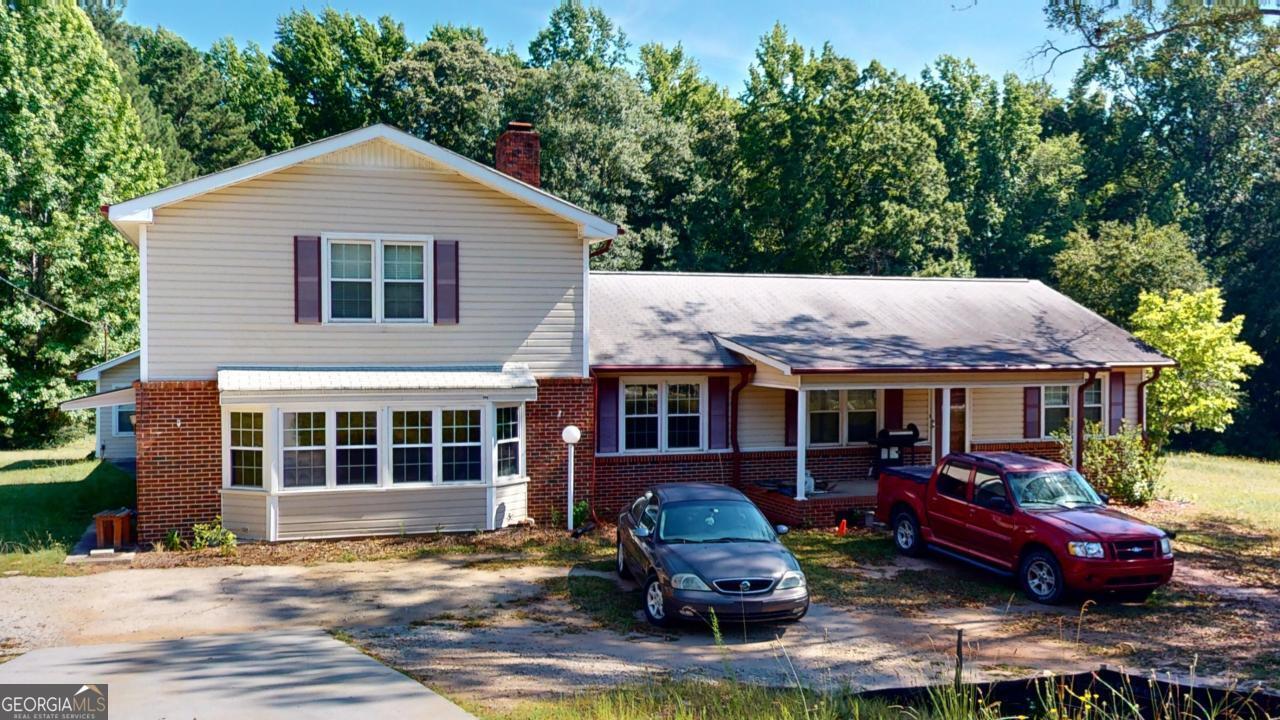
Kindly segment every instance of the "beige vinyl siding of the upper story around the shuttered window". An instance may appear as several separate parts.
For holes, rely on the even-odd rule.
[[[159,209],[147,228],[150,379],[227,364],[527,363],[582,373],[577,228],[385,143]],[[458,241],[460,323],[293,322],[293,237]]]

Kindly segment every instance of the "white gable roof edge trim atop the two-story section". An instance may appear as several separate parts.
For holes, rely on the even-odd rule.
[[[618,225],[616,223],[594,215],[567,200],[562,200],[541,188],[518,181],[507,173],[485,165],[484,163],[477,163],[470,158],[458,155],[452,150],[445,150],[434,142],[413,137],[412,135],[388,124],[369,126],[335,135],[333,137],[326,137],[324,140],[317,140],[315,142],[308,142],[306,145],[300,145],[291,150],[284,150],[274,155],[268,155],[266,158],[259,158],[257,160],[236,165],[234,168],[228,168],[225,170],[178,183],[141,197],[134,197],[133,200],[118,202],[106,209],[106,217],[116,228],[129,237],[131,241],[136,242],[136,227],[138,224],[150,223],[154,218],[155,210],[159,208],[251,181],[253,178],[297,165],[298,163],[305,163],[307,160],[320,158],[321,155],[346,150],[347,147],[353,147],[374,140],[383,140],[403,150],[428,158],[429,160],[454,170],[466,178],[474,179],[480,184],[568,220],[579,227],[585,240],[607,240],[617,237],[618,234]]]

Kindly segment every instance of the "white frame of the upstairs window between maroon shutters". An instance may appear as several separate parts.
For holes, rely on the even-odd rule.
[[[369,245],[372,247],[372,316],[364,318],[334,318],[333,316],[333,278],[330,270],[333,265],[333,245]],[[321,316],[325,324],[335,325],[367,325],[367,324],[408,324],[433,325],[435,324],[435,297],[431,288],[435,287],[435,238],[430,234],[390,234],[390,233],[348,233],[325,232],[320,234],[323,246],[320,261],[320,304]],[[384,247],[387,245],[421,245],[422,246],[422,319],[416,318],[387,318],[384,307],[385,283],[383,268]],[[411,281],[392,281],[411,282]]]

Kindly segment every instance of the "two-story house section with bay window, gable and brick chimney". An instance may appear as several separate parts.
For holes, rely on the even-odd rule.
[[[548,438],[594,442],[588,259],[617,227],[539,190],[529,126],[498,168],[374,126],[106,210],[141,259],[143,541],[525,519]]]

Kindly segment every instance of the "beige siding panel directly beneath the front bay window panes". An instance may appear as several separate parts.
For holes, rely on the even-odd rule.
[[[484,486],[284,492],[279,539],[484,529]]]

